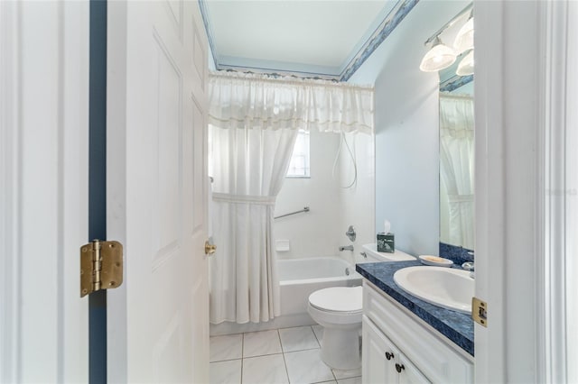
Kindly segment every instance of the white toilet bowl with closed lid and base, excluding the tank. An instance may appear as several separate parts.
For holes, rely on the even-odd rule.
[[[362,288],[317,290],[309,296],[307,310],[312,319],[323,326],[322,361],[338,370],[359,368]]]

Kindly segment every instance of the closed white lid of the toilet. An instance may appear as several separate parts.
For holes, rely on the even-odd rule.
[[[312,306],[326,311],[356,312],[362,306],[362,287],[331,287],[313,292],[309,296]]]

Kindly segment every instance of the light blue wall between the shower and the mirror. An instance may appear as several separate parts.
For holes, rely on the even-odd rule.
[[[468,2],[421,1],[350,78],[376,88],[376,230],[391,222],[396,248],[438,254],[437,73],[419,64],[424,41]]]

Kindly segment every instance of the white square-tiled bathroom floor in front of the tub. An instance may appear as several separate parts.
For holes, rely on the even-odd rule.
[[[361,384],[361,369],[332,370],[320,357],[321,325],[210,338],[211,384]]]

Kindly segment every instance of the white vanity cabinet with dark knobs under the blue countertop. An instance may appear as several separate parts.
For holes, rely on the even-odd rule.
[[[364,280],[364,383],[471,383],[473,358]]]

